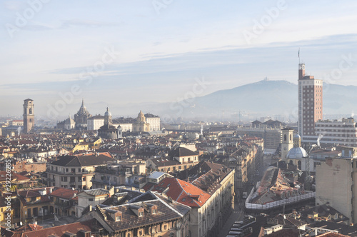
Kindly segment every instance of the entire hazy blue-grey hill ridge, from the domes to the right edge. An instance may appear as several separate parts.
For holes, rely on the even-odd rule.
[[[323,114],[326,119],[340,119],[357,112],[357,86],[341,86],[323,84]],[[80,103],[68,105],[75,114]],[[104,114],[108,104],[97,102],[86,104],[89,112],[99,111]],[[134,116],[140,110],[174,121],[178,117],[203,120],[253,121],[261,116],[271,116],[281,121],[297,121],[298,86],[288,81],[258,81],[213,92],[206,96],[196,97],[188,101],[171,103],[144,102],[119,106],[111,104],[114,116]],[[355,110],[356,108],[356,110]],[[95,114],[95,113],[94,113]],[[93,114],[93,115],[94,115]],[[326,115],[335,115],[326,116]],[[62,114],[65,119],[67,116]],[[72,115],[73,116],[73,115]]]

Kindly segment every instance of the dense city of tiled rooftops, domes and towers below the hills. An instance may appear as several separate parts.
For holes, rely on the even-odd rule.
[[[323,120],[304,64],[296,95],[298,123],[93,116],[82,99],[51,127],[24,99],[1,123],[1,234],[356,236],[356,123]]]

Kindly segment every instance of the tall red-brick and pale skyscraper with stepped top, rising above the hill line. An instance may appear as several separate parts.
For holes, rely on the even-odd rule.
[[[322,80],[306,76],[298,64],[298,133],[304,142],[316,142],[315,122],[322,119]]]

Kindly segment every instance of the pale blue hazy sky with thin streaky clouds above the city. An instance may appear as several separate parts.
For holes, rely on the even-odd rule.
[[[357,85],[356,10],[326,0],[0,1],[0,116],[21,115],[26,98],[46,114],[82,98],[167,102],[265,77],[296,83],[299,48],[308,74]]]

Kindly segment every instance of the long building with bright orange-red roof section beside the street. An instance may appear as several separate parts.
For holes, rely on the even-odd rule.
[[[235,171],[210,162],[196,168],[200,172],[188,177],[192,183],[167,177],[150,190],[192,208],[188,236],[218,236],[234,208]]]

